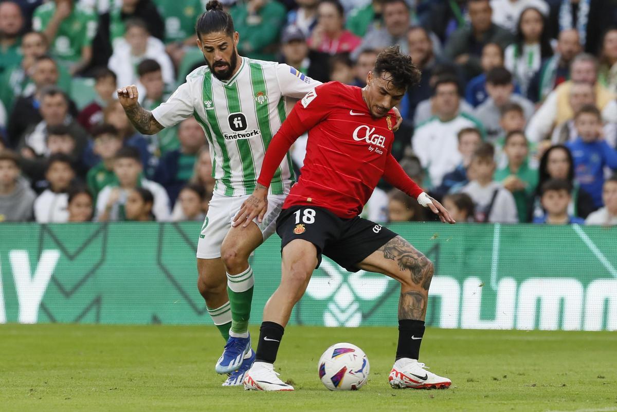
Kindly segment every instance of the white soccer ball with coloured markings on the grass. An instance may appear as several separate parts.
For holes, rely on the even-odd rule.
[[[358,390],[368,378],[368,358],[356,345],[340,343],[326,349],[317,364],[321,383],[329,390]]]

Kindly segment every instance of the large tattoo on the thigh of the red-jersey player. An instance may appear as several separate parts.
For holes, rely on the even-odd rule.
[[[429,289],[433,278],[433,263],[405,239],[394,237],[378,251],[383,252],[384,258],[394,260],[400,271],[409,271],[415,284],[419,284],[424,290]]]

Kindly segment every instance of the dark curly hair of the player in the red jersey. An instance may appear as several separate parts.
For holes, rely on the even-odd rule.
[[[391,46],[379,53],[373,73],[381,76],[388,72],[392,85],[397,89],[408,89],[420,83],[422,72],[412,62],[412,58],[400,52],[399,46]]]

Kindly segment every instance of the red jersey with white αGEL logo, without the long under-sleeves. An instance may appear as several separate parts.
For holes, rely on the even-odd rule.
[[[396,116],[373,118],[362,89],[331,82],[309,92],[294,107],[309,130],[304,167],[283,208],[315,205],[341,218],[362,212],[384,175]]]

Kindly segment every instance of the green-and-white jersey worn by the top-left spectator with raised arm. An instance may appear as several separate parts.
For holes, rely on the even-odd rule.
[[[43,31],[56,12],[56,2],[49,1],[36,7],[32,27]],[[81,49],[92,45],[98,24],[97,15],[76,4],[73,12],[60,23],[51,46],[52,54],[62,62],[73,63],[81,59]]]

